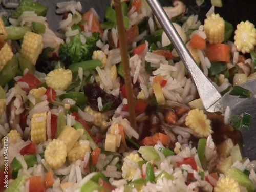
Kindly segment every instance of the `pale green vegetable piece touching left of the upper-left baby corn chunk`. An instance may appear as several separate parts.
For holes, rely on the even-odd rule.
[[[27,31],[31,31],[27,26],[8,26],[5,27],[7,32],[7,40],[19,40],[22,39]]]

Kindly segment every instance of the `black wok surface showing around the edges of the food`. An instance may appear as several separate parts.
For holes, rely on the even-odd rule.
[[[188,8],[188,14],[198,14],[199,20],[203,23],[205,14],[211,7],[210,0],[198,7],[196,0],[182,0]],[[58,23],[61,20],[61,15],[56,15],[56,3],[58,0],[38,0],[39,3],[46,5],[49,9],[47,12],[48,23],[51,29],[57,30]],[[84,0],[81,1],[83,12],[94,8],[101,19],[104,18],[105,7],[110,5],[111,0]],[[170,0],[160,0],[163,6],[172,5]],[[0,8],[2,9],[1,5]],[[219,13],[227,22],[231,23],[234,27],[242,20],[250,20],[251,23],[256,25],[256,17],[254,15],[256,8],[256,1],[254,0],[224,0],[222,8],[215,8],[215,13]],[[232,39],[232,37],[231,37]],[[256,85],[255,85],[256,86]],[[248,105],[256,105],[256,103],[247,103]],[[246,111],[250,113],[249,111]],[[252,124],[256,124],[256,119],[252,120]],[[250,130],[241,130],[243,140],[245,142],[243,148],[244,157],[248,157],[250,160],[256,160],[256,127],[251,127]]]

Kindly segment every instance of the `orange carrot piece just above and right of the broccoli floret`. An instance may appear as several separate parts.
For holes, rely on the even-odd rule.
[[[93,14],[93,12],[91,10],[89,10],[82,15],[82,19],[86,20],[87,23],[89,23],[91,17],[92,17],[92,26],[91,26],[91,28],[89,27],[89,31],[90,32],[99,32],[100,37],[102,37],[103,29],[100,27],[100,23],[99,23],[97,17]]]

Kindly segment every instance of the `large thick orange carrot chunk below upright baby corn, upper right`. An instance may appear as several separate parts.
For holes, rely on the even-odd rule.
[[[210,62],[230,62],[231,48],[225,44],[207,44],[206,56]]]

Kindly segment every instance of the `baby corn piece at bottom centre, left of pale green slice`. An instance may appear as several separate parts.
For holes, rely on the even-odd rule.
[[[128,160],[128,161],[127,161]],[[133,162],[131,164],[130,162]],[[132,180],[136,171],[137,167],[134,166],[134,163],[137,163],[139,161],[143,161],[143,159],[139,156],[138,153],[130,153],[128,156],[124,158],[123,166],[122,166],[122,177],[126,180]]]

